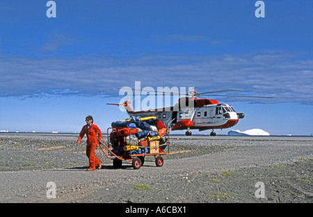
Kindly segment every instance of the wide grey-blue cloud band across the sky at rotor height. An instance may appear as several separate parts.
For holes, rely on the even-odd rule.
[[[0,61],[1,96],[118,95],[118,88],[194,86],[198,92],[240,88],[275,95],[256,102],[313,104],[313,60],[270,52],[220,56],[22,58]],[[239,99],[236,100],[246,100]]]

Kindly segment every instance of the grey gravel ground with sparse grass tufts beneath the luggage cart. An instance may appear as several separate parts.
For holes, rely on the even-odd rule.
[[[77,137],[0,134],[0,202],[313,202],[312,137],[171,136],[164,165],[147,156],[139,170],[113,168],[98,147],[93,172]]]

